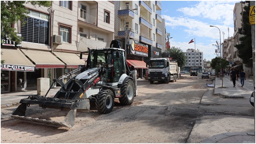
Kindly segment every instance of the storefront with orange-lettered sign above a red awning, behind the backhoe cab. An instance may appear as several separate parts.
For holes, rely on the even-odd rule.
[[[127,54],[128,66],[131,70],[136,69],[139,78],[143,78],[145,74],[146,63],[144,59],[148,57],[147,45],[141,44],[138,41],[132,40],[132,44],[129,45],[129,51]]]

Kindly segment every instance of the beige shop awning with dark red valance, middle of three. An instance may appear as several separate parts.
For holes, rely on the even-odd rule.
[[[50,52],[27,49],[22,51],[35,62],[36,68],[65,68],[65,64]]]

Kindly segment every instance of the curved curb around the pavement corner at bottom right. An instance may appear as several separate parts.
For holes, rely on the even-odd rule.
[[[230,136],[237,136],[237,135],[240,135],[240,136],[255,136],[255,133],[223,133],[223,134],[217,134],[215,136],[212,136],[212,137],[209,137],[207,139],[205,139],[203,142],[201,143],[217,143],[218,141],[220,141],[221,139],[224,139],[224,138],[227,138],[227,137],[230,137]],[[252,139],[253,140],[253,139]],[[254,140],[255,141],[255,140]],[[253,142],[254,141],[250,141],[250,142]],[[243,140],[241,141],[237,141],[237,142],[243,142]]]

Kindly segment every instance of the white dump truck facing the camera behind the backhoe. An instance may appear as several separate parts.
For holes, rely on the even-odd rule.
[[[178,80],[178,63],[170,58],[150,58],[147,61],[148,81],[176,82]]]

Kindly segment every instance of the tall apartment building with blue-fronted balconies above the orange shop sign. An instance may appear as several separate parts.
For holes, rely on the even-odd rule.
[[[131,69],[137,69],[139,77],[145,74],[149,58],[161,58],[164,30],[161,1],[114,1],[115,40],[126,50],[127,62]]]

